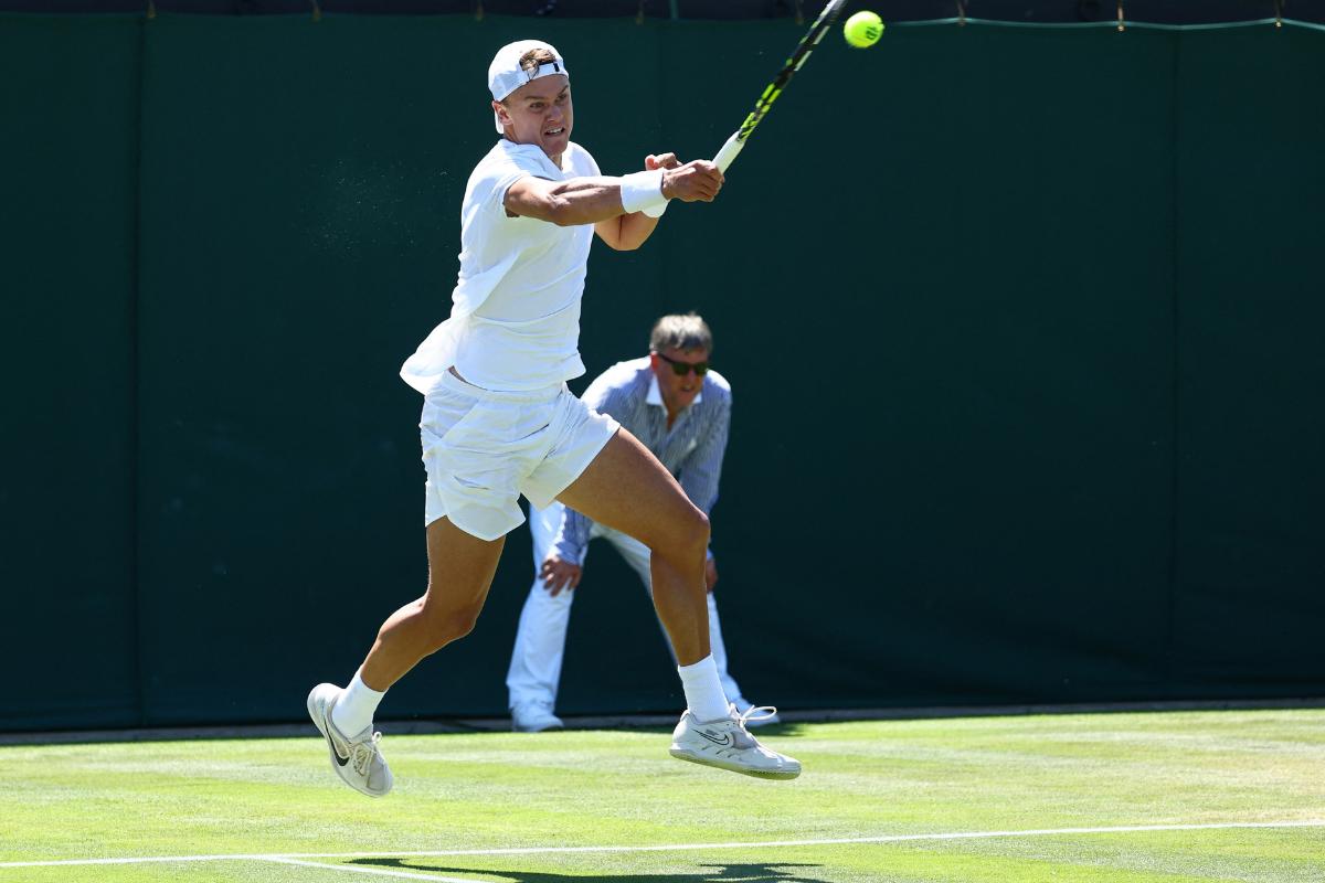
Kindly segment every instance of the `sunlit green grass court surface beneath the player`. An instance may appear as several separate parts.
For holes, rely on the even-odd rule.
[[[804,763],[799,780],[674,761],[661,732],[392,737],[388,725],[396,790],[379,801],[341,785],[315,737],[7,747],[0,883],[1325,880],[1325,826],[1280,826],[1325,819],[1321,710],[765,732]],[[1267,826],[1030,833],[1228,823]],[[999,831],[1026,833],[713,846]],[[639,849],[656,846],[674,849]],[[560,847],[631,849],[549,851]],[[227,855],[313,864],[15,866]]]

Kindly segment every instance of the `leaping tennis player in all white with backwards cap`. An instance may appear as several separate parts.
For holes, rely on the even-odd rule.
[[[424,395],[428,588],[382,625],[344,688],[307,698],[331,767],[370,797],[391,790],[372,718],[420,659],[464,637],[482,610],[518,496],[553,500],[639,539],[651,551],[653,604],[676,651],[686,711],[670,753],[710,767],[794,778],[800,764],[755,740],[722,692],[709,647],[708,516],[611,417],[572,396],[584,373],[579,315],[596,233],[636,249],[668,201],[713,201],[722,173],[706,160],[649,155],[645,171],[599,173],[570,140],[570,71],[551,45],[502,46],[488,68],[501,139],[480,160],[461,207],[460,278],[450,318],[405,361]]]

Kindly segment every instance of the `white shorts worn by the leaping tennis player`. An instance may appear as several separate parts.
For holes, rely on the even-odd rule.
[[[450,372],[424,398],[419,421],[428,471],[424,524],[447,516],[481,540],[525,522],[519,495],[546,508],[620,429],[566,384],[490,392]]]

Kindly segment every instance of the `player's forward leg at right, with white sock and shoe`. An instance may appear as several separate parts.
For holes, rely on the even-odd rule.
[[[709,653],[709,519],[672,474],[621,429],[558,499],[649,547],[653,605],[676,650],[689,704],[672,733],[672,756],[762,778],[799,776],[800,761],[761,745],[746,728],[750,712],[742,716],[726,704]]]

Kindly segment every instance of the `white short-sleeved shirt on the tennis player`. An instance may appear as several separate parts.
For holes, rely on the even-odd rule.
[[[509,217],[506,191],[526,175],[560,181],[599,169],[574,142],[562,154],[562,168],[537,144],[504,138],[488,151],[465,188],[450,319],[433,328],[400,369],[419,392],[431,392],[452,365],[476,387],[504,392],[541,389],[584,373],[579,314],[594,225]]]

